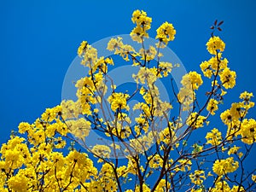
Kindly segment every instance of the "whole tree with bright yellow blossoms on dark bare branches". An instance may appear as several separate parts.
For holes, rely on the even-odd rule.
[[[256,167],[246,170],[244,166],[256,138],[256,121],[246,117],[254,106],[253,93],[244,91],[239,102],[221,109],[227,90],[236,84],[236,72],[224,58],[225,44],[215,36],[223,21],[212,26],[207,42],[212,57],[200,65],[205,84],[207,79],[210,84],[203,90],[205,100],[199,101],[201,74],[186,73],[177,89],[170,76],[179,65],[162,61],[162,50],[176,34],[172,24],[163,23],[156,30],[157,44],[147,47],[144,42],[152,19],[136,10],[131,20],[136,25],[131,38],[141,49],[122,38],[112,38],[107,49],[138,68],[132,77],[137,88],[131,93],[119,91],[108,75],[114,56],[99,57],[97,49],[83,41],[78,54],[89,74],[75,84],[77,100],[47,108],[34,123],[22,122],[19,133],[12,132],[1,148],[1,191],[256,189]],[[162,99],[159,79],[171,79],[172,102]],[[141,102],[131,106],[134,97]],[[138,115],[131,115],[131,108]],[[172,110],[175,115],[171,116]],[[217,118],[212,120],[214,115]],[[203,138],[195,137],[204,130]],[[88,146],[91,131],[108,143]]]

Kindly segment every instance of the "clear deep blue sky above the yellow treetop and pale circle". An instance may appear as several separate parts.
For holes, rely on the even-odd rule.
[[[187,70],[199,71],[201,61],[209,59],[209,27],[224,20],[219,33],[226,43],[224,56],[237,73],[237,85],[225,98],[227,108],[243,90],[256,94],[253,0],[5,0],[0,3],[0,143],[20,121],[32,123],[61,102],[63,79],[80,42],[131,32],[134,9],[153,17],[153,38],[162,22],[173,23],[177,36],[170,47]]]

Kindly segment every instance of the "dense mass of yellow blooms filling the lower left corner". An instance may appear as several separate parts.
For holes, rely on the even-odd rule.
[[[81,181],[95,177],[97,170],[87,154],[76,150],[65,157],[67,135],[61,107],[47,109],[32,125],[20,123],[23,137],[12,136],[1,148],[1,191],[73,191]],[[61,139],[60,139],[61,138]]]

